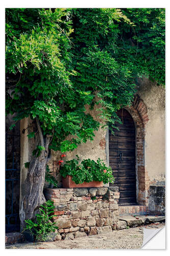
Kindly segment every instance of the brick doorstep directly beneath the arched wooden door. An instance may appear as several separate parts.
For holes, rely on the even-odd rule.
[[[146,215],[147,206],[145,205],[119,205],[118,206],[119,216],[127,215]]]

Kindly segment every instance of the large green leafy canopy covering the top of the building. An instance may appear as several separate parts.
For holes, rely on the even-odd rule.
[[[66,152],[113,125],[135,78],[164,84],[164,9],[6,9],[6,110],[38,118]],[[67,139],[72,135],[72,139]],[[34,133],[29,135],[30,138]]]

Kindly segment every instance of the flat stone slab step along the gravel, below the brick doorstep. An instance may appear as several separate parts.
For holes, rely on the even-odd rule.
[[[165,216],[122,216],[119,217],[119,221],[126,221],[127,226],[132,227],[134,225],[150,224],[154,222],[165,221]]]

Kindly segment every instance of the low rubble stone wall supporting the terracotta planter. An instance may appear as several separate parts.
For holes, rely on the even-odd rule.
[[[47,188],[46,200],[54,201],[54,221],[62,239],[112,232],[119,220],[118,187]]]

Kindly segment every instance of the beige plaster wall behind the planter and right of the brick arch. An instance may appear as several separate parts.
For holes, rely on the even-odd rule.
[[[165,183],[165,89],[156,86],[147,78],[137,80],[137,94],[147,106],[149,121],[144,127],[144,166],[147,171],[148,183],[164,185]],[[100,120],[99,112],[90,111],[88,107],[86,112]],[[97,160],[99,157],[109,164],[108,150],[108,129],[99,129],[94,132],[93,141],[78,145],[78,148],[72,152],[67,152],[64,160],[70,160],[79,155],[80,159]],[[53,170],[54,177],[58,180],[58,186],[61,187],[61,177],[59,175],[59,165],[61,152],[53,152],[48,161],[48,165]]]

